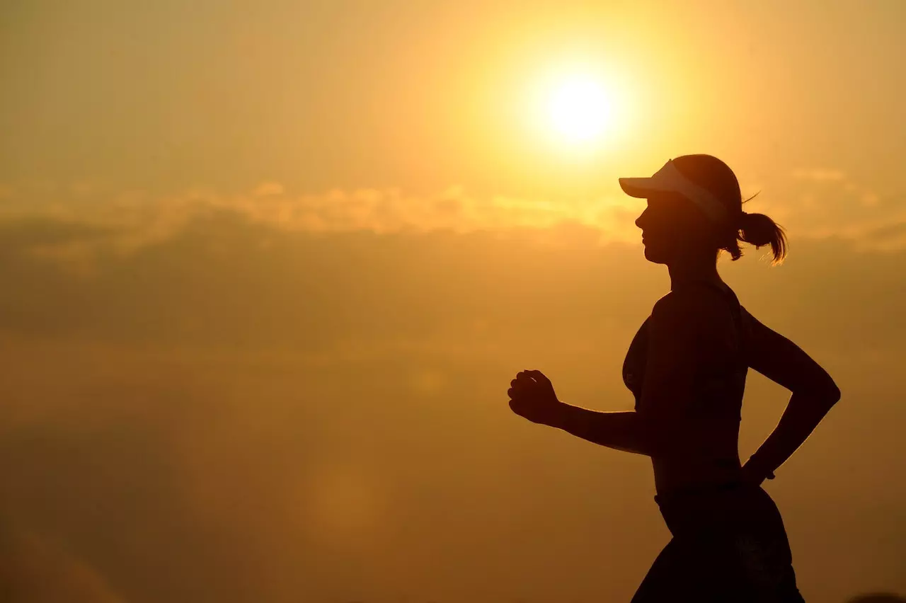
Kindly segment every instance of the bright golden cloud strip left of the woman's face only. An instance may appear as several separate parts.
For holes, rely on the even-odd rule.
[[[10,189],[14,190],[14,189]],[[77,192],[73,192],[77,190]],[[92,194],[89,194],[92,193]],[[275,182],[263,182],[250,194],[220,194],[195,188],[167,196],[143,191],[110,193],[101,187],[18,189],[0,205],[0,220],[49,218],[59,223],[108,230],[100,241],[47,241],[42,253],[72,258],[106,245],[129,254],[178,234],[192,220],[231,211],[252,222],[296,232],[375,234],[456,233],[512,228],[544,229],[579,224],[593,228],[602,241],[635,241],[632,225],[641,207],[620,196],[551,201],[516,196],[474,196],[463,187],[432,195],[409,195],[399,188],[333,189],[322,194],[288,194]]]

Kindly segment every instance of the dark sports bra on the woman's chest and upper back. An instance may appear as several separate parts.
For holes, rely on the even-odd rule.
[[[738,353],[737,358],[732,363],[729,371],[724,368],[721,372],[722,374],[714,374],[708,378],[707,383],[699,384],[700,388],[707,389],[709,398],[716,398],[714,401],[723,400],[724,410],[728,410],[728,404],[735,404],[737,420],[741,417],[740,411],[742,407],[742,388],[745,388],[745,380],[748,371],[748,363],[746,361],[746,356],[744,353],[744,341],[743,337],[744,325],[743,321],[743,312],[746,310],[739,304],[739,300],[736,296],[736,293],[733,292],[729,287],[721,287],[714,282],[699,282],[694,284],[686,285],[689,286],[706,286],[712,289],[718,290],[723,297],[730,304],[730,310],[733,315],[733,322],[736,326],[737,332],[737,342],[738,342]],[[635,409],[639,410],[639,402],[641,401],[641,386],[645,380],[645,364],[648,356],[648,325],[651,321],[651,316],[645,319],[641,323],[641,327],[636,332],[635,337],[632,338],[629,350],[626,352],[626,358],[623,360],[622,367],[622,378],[623,383],[627,388],[632,392],[632,395],[635,397]],[[741,380],[741,383],[740,383]],[[737,398],[737,403],[734,402],[734,399]],[[719,403],[719,402],[718,402]]]

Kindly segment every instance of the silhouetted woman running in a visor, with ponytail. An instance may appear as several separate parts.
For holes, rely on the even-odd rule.
[[[633,603],[803,601],[780,513],[761,488],[840,398],[824,369],[739,305],[720,280],[720,250],[738,241],[786,254],[783,230],[742,210],[733,171],[687,155],[648,178],[621,178],[648,199],[636,220],[645,258],[667,264],[670,292],[654,304],[623,363],[635,410],[597,412],[557,400],[540,371],[516,375],[510,407],[530,421],[651,456],[655,501],[673,535]],[[741,464],[740,407],[749,368],[792,392],[776,429]]]

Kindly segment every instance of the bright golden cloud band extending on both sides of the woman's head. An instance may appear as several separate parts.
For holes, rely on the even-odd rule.
[[[77,185],[77,186],[76,186]],[[178,235],[193,221],[231,212],[259,225],[284,232],[377,235],[457,234],[515,230],[535,231],[550,244],[570,244],[571,225],[583,228],[599,244],[637,244],[635,218],[643,201],[602,193],[560,199],[512,195],[476,195],[453,186],[433,194],[409,194],[400,188],[333,189],[318,194],[292,194],[280,183],[265,181],[250,193],[224,194],[196,187],[169,195],[144,191],[113,192],[98,184],[56,187],[6,187],[0,199],[0,223],[48,218],[53,226],[92,228],[79,238],[35,242],[33,253],[91,273],[98,254],[133,254]],[[843,172],[800,169],[787,182],[767,183],[747,204],[750,212],[775,218],[794,242],[838,237],[856,242],[859,250],[889,252],[900,239],[875,241],[871,233],[906,220],[906,199],[860,186]],[[50,223],[48,223],[47,227]]]

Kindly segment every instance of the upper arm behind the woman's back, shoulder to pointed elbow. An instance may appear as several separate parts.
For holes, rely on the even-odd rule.
[[[776,330],[766,327],[751,314],[747,319],[747,360],[751,369],[790,391],[826,388],[835,390],[827,371]]]

